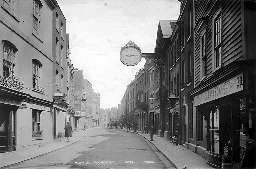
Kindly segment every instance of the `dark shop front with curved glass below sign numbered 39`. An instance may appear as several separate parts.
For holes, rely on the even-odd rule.
[[[251,77],[252,78],[252,77]],[[206,160],[215,168],[231,168],[245,155],[244,132],[255,119],[255,88],[248,87],[247,73],[240,72],[194,96],[196,111],[206,120]]]

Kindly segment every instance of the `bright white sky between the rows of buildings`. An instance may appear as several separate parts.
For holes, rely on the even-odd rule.
[[[66,18],[66,33],[72,48],[71,63],[84,70],[101,108],[117,107],[127,85],[145,59],[136,66],[120,61],[128,41],[142,53],[154,53],[159,20],[177,20],[178,0],[58,0]]]

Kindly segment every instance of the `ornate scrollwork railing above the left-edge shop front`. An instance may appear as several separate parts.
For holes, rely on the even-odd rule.
[[[20,83],[18,78],[16,78],[13,74],[11,74],[8,78],[0,76],[0,86],[24,92],[23,84]]]

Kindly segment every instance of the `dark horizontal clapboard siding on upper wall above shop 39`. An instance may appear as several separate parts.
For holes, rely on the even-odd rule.
[[[220,1],[221,2],[221,1]],[[241,0],[225,0],[215,3],[215,0],[195,0],[195,23],[201,24],[201,17],[208,14],[214,16],[218,9],[222,11],[222,54],[223,66],[236,60],[243,59],[242,50],[242,5]],[[214,5],[214,6],[211,6]],[[213,18],[208,23],[203,23],[200,30],[195,32],[195,86],[200,84],[201,80],[201,51],[200,51],[200,31],[206,25],[207,34],[207,77],[212,74],[212,34]]]

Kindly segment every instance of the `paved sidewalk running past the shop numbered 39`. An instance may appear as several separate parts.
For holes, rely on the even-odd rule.
[[[130,130],[130,132],[134,132]],[[150,141],[150,134],[138,131],[139,135]],[[204,157],[190,149],[180,145],[175,146],[170,140],[154,135],[154,141],[150,141],[177,169],[213,169],[209,166]]]

